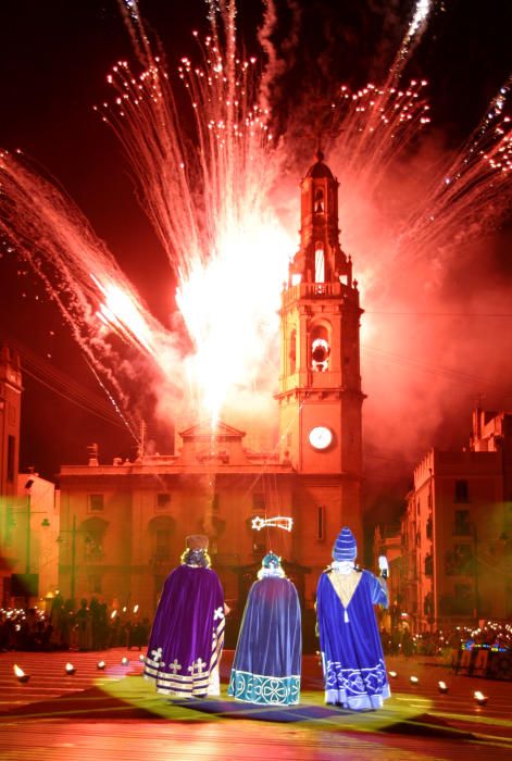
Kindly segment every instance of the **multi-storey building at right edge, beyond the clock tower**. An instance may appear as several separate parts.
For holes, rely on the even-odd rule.
[[[512,414],[475,410],[470,446],[432,449],[402,522],[401,610],[415,632],[512,616]]]

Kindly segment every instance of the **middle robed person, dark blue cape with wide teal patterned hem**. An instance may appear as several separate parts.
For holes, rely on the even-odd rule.
[[[263,558],[247,598],[228,695],[245,702],[294,706],[300,697],[301,619],[297,589],[279,558]]]

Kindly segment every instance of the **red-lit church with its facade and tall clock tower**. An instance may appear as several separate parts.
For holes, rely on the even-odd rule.
[[[338,183],[317,154],[301,183],[300,247],[280,310],[278,438],[245,446],[228,421],[179,432],[175,454],[61,470],[62,594],[138,604],[151,614],[187,534],[210,536],[226,598],[243,602],[270,547],[283,556],[305,607],[344,524],[360,547],[360,316],[352,263],[339,245]],[[252,527],[285,515],[294,529]]]

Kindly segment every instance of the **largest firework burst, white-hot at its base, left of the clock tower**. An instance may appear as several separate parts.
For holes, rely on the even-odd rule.
[[[218,12],[212,0],[209,9],[211,35],[197,39],[200,63],[183,59],[178,68],[195,140],[185,138],[183,109],[149,47],[139,77],[125,63],[114,68],[116,99],[101,113],[177,274],[177,303],[195,342],[187,370],[197,400],[215,420],[227,396],[236,404],[237,389],[270,390],[266,349],[292,249],[267,200],[278,166],[269,160],[273,144],[257,104],[255,61],[238,50],[235,3]],[[125,18],[139,24],[133,12]],[[143,29],[132,36],[143,37]]]

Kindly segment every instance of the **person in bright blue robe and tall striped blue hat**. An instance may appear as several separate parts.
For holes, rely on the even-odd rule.
[[[350,528],[342,528],[334,562],[319,581],[316,615],[325,682],[325,702],[354,711],[382,708],[389,683],[374,604],[388,604],[387,585],[354,566],[358,553]]]

